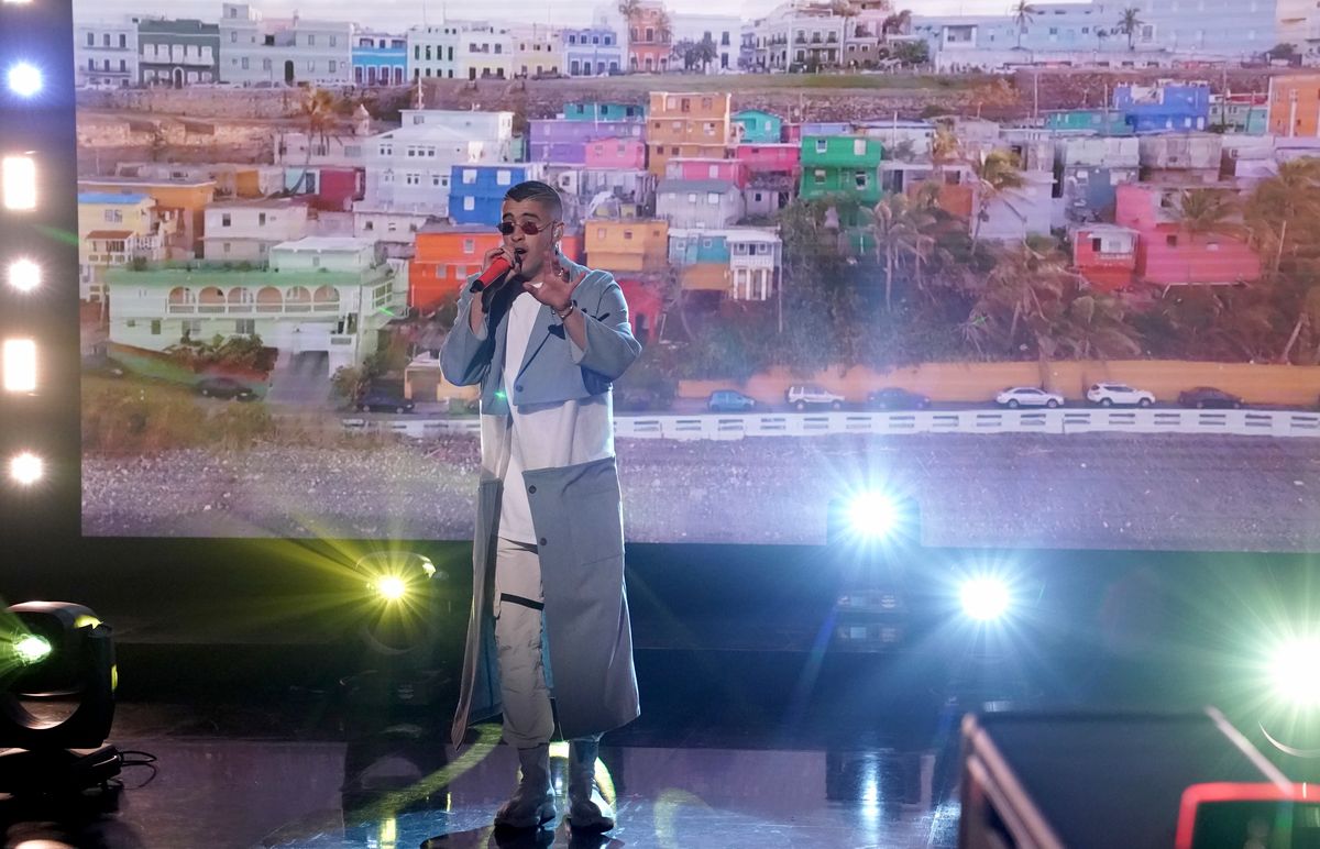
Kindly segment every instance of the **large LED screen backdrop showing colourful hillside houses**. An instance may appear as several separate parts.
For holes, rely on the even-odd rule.
[[[929,544],[1317,547],[1320,85],[1177,41],[1230,9],[380,5],[75,7],[87,535],[467,537],[436,351],[543,180],[644,343],[634,541],[886,489]]]

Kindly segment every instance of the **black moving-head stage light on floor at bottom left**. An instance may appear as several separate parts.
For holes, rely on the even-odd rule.
[[[79,791],[119,774],[110,626],[69,602],[12,605],[0,619],[0,792]],[[73,710],[51,718],[37,705]],[[36,710],[36,713],[33,712]]]

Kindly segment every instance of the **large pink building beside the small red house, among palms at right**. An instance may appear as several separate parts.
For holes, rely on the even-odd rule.
[[[1261,257],[1242,238],[1218,232],[1193,235],[1177,223],[1180,190],[1150,184],[1117,189],[1114,223],[1138,232],[1137,279],[1162,287],[1259,279]]]

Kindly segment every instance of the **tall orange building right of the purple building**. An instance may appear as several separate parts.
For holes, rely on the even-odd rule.
[[[664,177],[673,157],[733,158],[737,139],[731,120],[733,95],[652,91],[647,111],[647,170]]]

